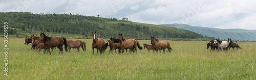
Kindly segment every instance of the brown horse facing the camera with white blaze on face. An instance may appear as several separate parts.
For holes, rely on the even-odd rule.
[[[104,40],[102,38],[97,38],[97,34],[96,32],[93,33],[93,54],[94,54],[94,48],[97,48],[97,54],[99,53],[98,51],[100,51],[100,55],[101,53],[104,51]]]

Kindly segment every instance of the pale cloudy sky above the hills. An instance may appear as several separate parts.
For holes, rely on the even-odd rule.
[[[255,4],[253,0],[1,0],[0,12],[100,15],[150,24],[256,30]]]

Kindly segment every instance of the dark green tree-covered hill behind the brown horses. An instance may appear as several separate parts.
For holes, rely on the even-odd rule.
[[[33,14],[29,12],[0,13],[0,22],[8,22],[9,28],[12,29],[12,32],[9,34],[16,34],[16,37],[48,32],[82,35],[83,38],[88,38],[92,36],[92,32],[96,31],[98,37],[103,38],[117,38],[119,33],[122,33],[124,37],[141,39],[150,38],[151,36],[160,39],[206,38],[187,30],[126,20],[127,18],[118,20],[116,18],[101,18],[73,14]],[[3,26],[1,27],[1,35],[3,35]]]

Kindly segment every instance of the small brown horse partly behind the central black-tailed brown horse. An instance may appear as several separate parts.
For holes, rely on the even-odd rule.
[[[116,49],[118,49],[119,50],[118,52],[120,52],[120,49],[121,49],[120,43],[114,43],[111,40],[108,40],[108,45],[110,46],[110,51],[112,52],[112,54],[114,49],[115,49],[115,52],[116,52]],[[109,51],[109,54],[110,54],[110,51]]]

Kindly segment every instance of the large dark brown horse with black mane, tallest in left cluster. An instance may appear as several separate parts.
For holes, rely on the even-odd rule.
[[[63,54],[63,45],[65,45],[65,50],[68,51],[68,44],[67,44],[67,40],[66,38],[61,38],[61,37],[56,37],[56,38],[51,38],[45,35],[45,33],[41,33],[41,41],[44,42],[45,48],[48,50],[48,52],[51,54],[50,52],[50,47],[58,47],[59,48],[59,54],[61,51],[61,54]]]

